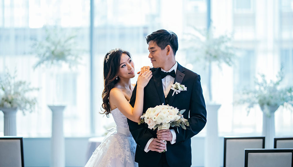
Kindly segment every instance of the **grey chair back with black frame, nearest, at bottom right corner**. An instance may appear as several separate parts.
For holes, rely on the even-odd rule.
[[[245,149],[244,167],[293,167],[293,149]]]

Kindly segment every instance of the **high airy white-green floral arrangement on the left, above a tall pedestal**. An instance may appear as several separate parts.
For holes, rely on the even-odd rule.
[[[42,64],[51,67],[67,63],[70,68],[80,64],[81,54],[84,51],[79,49],[76,43],[76,33],[56,27],[45,30],[45,40],[35,41],[33,45],[33,54],[39,58],[34,69]]]

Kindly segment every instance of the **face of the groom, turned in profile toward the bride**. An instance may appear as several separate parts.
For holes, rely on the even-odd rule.
[[[153,40],[149,41],[149,58],[154,68],[163,67],[166,63],[167,47],[161,49]]]

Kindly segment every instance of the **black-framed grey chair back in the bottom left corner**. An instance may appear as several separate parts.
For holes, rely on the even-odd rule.
[[[0,137],[0,166],[24,167],[22,137]]]

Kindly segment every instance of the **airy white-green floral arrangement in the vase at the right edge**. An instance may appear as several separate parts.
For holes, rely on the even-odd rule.
[[[280,83],[284,79],[281,70],[277,74],[277,80],[265,79],[264,74],[260,74],[260,80],[256,79],[255,89],[244,90],[243,97],[238,103],[248,103],[248,109],[258,104],[263,113],[270,117],[280,106],[293,106],[293,86],[281,88]],[[249,110],[248,110],[249,111]]]

